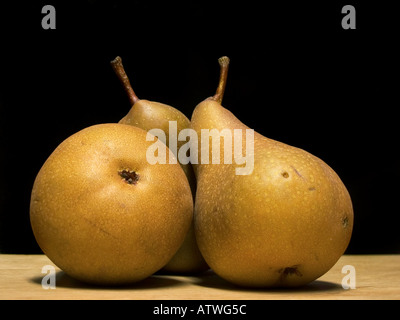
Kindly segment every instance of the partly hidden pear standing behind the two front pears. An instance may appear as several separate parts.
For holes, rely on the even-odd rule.
[[[179,134],[181,130],[190,127],[190,120],[181,111],[167,104],[139,99],[131,86],[122,64],[121,57],[117,56],[113,61],[111,61],[111,66],[122,83],[132,105],[128,114],[125,115],[119,123],[136,126],[146,131],[161,129],[165,133],[166,140],[163,142],[167,147],[170,147],[170,138],[175,141],[176,148],[171,148],[171,151],[174,152],[177,157],[178,155],[176,152],[186,142],[178,141],[177,136],[170,137],[170,132],[172,135]],[[170,121],[176,123],[176,132],[170,131]],[[196,178],[194,176],[192,165],[190,163],[180,163],[180,165],[186,174],[194,197],[196,192]],[[174,273],[197,273],[207,269],[209,269],[209,267],[198,249],[194,235],[194,225],[192,224],[182,247],[178,250],[171,261],[164,266],[163,271]]]

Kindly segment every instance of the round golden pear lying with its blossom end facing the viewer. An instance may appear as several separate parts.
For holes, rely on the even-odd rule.
[[[146,135],[128,125],[95,125],[67,138],[40,169],[32,229],[43,252],[71,277],[136,282],[183,243],[193,214],[189,184],[178,164],[148,163]]]

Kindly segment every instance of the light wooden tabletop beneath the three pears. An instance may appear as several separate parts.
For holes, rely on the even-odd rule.
[[[45,255],[0,254],[0,299],[400,299],[400,255],[345,255],[305,287],[262,290],[238,288],[211,271],[196,277],[153,275],[128,287],[96,287],[80,283],[58,268],[55,289],[44,289],[42,268],[46,265],[54,266]],[[346,265],[354,267],[355,289],[342,287],[343,278],[350,275],[342,273]]]

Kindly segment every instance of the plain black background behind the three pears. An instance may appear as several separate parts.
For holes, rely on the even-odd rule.
[[[139,98],[189,118],[231,66],[223,105],[261,134],[303,148],[353,199],[347,253],[400,253],[398,18],[389,1],[15,1],[0,5],[0,252],[39,253],[33,181],[51,152],[129,110],[110,61]],[[44,5],[56,29],[44,30]],[[357,29],[341,27],[344,5]]]

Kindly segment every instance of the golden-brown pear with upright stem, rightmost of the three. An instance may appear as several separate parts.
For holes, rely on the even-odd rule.
[[[196,106],[191,128],[199,137],[206,129],[231,137],[236,132],[242,144],[225,146],[224,138],[213,149],[211,138],[208,145],[206,139],[199,142],[198,158],[193,160],[198,162],[193,167],[199,249],[216,274],[239,286],[305,285],[326,273],[345,252],[353,228],[350,195],[321,159],[254,132],[222,107],[229,58],[219,63],[217,92]],[[251,132],[253,136],[247,134]],[[253,161],[247,172],[239,172],[239,161],[224,154],[238,150]],[[218,151],[220,161],[213,163]],[[205,152],[208,161],[200,161]]]

